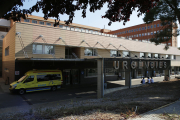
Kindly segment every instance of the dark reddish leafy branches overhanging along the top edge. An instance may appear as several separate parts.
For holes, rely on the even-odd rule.
[[[129,21],[132,11],[137,8],[138,17],[153,8],[159,0],[39,0],[29,9],[20,9],[25,0],[1,0],[0,1],[0,18],[13,19],[19,21],[20,18],[26,18],[28,14],[41,9],[44,14],[44,19],[55,17],[55,26],[59,24],[59,14],[69,15],[66,24],[72,23],[75,11],[82,10],[82,17],[86,17],[86,10],[90,6],[90,12],[100,10],[105,3],[108,4],[108,9],[102,18],[109,19],[108,25],[112,22]]]

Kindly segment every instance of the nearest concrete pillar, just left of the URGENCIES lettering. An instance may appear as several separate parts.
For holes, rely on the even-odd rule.
[[[97,98],[104,97],[104,59],[97,60]]]

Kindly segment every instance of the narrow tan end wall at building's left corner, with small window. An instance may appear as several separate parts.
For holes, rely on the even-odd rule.
[[[15,71],[15,31],[14,25],[3,39],[2,50],[2,77],[4,80],[9,77],[10,83],[14,81]],[[5,48],[9,46],[9,55],[5,56]]]

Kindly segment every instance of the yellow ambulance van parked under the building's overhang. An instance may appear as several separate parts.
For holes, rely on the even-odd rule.
[[[26,92],[52,90],[61,88],[63,84],[61,70],[31,70],[18,81],[10,84],[10,92],[24,94]]]

